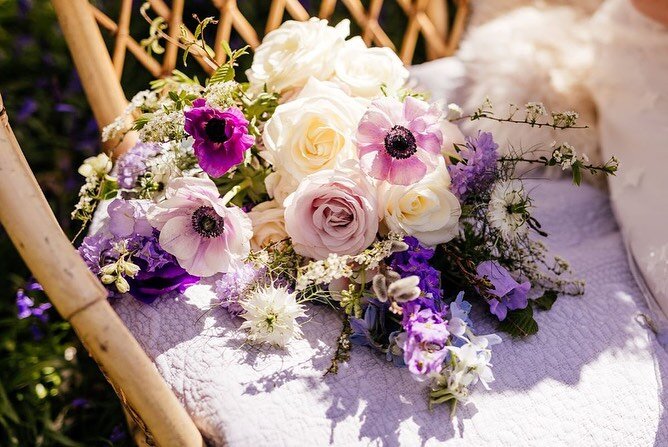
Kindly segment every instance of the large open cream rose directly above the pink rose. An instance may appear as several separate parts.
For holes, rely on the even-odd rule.
[[[262,139],[276,171],[295,180],[333,169],[357,156],[354,137],[366,101],[346,95],[331,82],[311,78],[292,101],[279,105]]]

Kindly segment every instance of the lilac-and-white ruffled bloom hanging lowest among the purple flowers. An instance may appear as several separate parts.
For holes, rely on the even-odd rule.
[[[440,372],[448,355],[446,342],[450,333],[447,321],[431,309],[413,312],[406,320],[406,339],[402,348],[408,370],[416,375]]]

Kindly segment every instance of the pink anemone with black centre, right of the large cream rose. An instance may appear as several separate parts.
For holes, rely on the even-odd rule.
[[[373,101],[357,129],[362,170],[395,185],[419,181],[438,165],[440,120],[435,106],[413,97],[403,103],[395,98]]]

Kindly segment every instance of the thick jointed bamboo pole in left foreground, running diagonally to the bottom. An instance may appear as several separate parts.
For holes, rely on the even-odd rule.
[[[202,446],[194,423],[58,226],[0,97],[0,223],[54,307],[160,446]]]

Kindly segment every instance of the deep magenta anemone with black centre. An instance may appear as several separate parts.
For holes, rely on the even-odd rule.
[[[255,144],[248,120],[237,107],[215,109],[200,98],[185,112],[185,131],[193,137],[199,165],[211,177],[221,177],[244,160]]]

